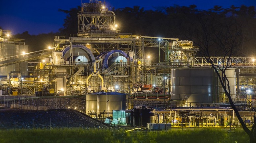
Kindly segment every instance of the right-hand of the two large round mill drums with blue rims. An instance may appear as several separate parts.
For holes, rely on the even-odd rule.
[[[121,50],[111,50],[109,52],[100,53],[98,58],[102,59],[103,68],[107,69],[113,63],[127,63],[128,55]]]

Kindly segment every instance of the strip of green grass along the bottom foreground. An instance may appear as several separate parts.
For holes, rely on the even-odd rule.
[[[107,129],[0,130],[0,143],[248,143],[242,130],[169,131]]]

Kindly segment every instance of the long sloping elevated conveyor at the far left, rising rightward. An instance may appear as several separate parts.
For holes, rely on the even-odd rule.
[[[20,62],[27,62],[27,61],[46,58],[52,55],[52,51],[54,51],[54,49],[55,48],[50,48],[50,49],[15,55],[7,58],[2,58],[0,59],[0,67],[15,64],[15,63],[20,63]]]

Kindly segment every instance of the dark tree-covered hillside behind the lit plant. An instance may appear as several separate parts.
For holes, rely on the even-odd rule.
[[[69,10],[59,9],[67,16],[64,19],[63,27],[57,33],[30,35],[28,31],[24,31],[14,35],[13,38],[25,39],[26,44],[29,45],[29,52],[45,49],[47,45],[53,45],[54,36],[65,36],[67,39],[70,34],[77,33],[77,12],[80,10],[80,6]],[[205,33],[208,36],[215,33],[217,35],[215,38],[218,38],[219,34],[222,35],[221,38],[224,37],[224,40],[227,40],[225,33],[236,32],[242,39],[240,56],[254,57],[256,53],[256,11],[254,6],[231,6],[227,9],[214,6],[209,10],[199,10],[196,5],[188,7],[175,5],[156,10],[144,10],[134,6],[133,8],[112,9],[112,11],[116,14],[121,33],[192,40],[197,46],[196,43],[202,40],[201,35]],[[203,30],[200,30],[202,28]]]

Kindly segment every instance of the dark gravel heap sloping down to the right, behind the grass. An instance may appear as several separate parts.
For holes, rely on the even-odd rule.
[[[14,127],[16,129],[108,128],[106,124],[75,110],[0,112],[0,129],[14,129]]]

